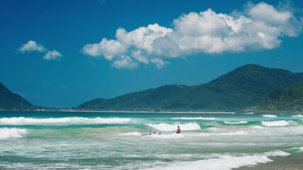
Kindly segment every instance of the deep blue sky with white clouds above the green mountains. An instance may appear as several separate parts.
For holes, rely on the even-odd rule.
[[[243,64],[303,72],[303,1],[4,0],[0,81],[71,108]]]

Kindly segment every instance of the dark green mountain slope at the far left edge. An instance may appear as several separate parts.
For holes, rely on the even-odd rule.
[[[26,101],[18,94],[9,91],[3,84],[0,83],[0,109],[27,109],[32,108],[33,105]]]

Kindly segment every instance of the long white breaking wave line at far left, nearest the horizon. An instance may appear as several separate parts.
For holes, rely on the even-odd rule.
[[[53,124],[53,123],[128,123],[130,118],[1,118],[0,125],[28,125],[28,124]]]

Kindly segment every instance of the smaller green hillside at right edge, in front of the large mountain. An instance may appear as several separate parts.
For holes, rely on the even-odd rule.
[[[259,111],[303,111],[303,84],[272,92],[254,110]]]

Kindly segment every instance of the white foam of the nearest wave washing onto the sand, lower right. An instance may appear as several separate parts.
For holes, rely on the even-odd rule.
[[[154,167],[152,169],[231,170],[231,169],[236,169],[236,168],[240,168],[243,166],[250,166],[250,165],[256,165],[256,164],[264,164],[267,162],[273,162],[272,159],[270,159],[268,157],[286,157],[288,155],[290,155],[290,154],[288,154],[287,152],[282,152],[282,151],[267,152],[264,154],[253,154],[253,155],[238,156],[238,157],[232,157],[229,155],[225,155],[222,157],[218,157],[216,159],[206,159],[206,160],[200,160],[197,162],[172,164],[170,166],[158,166],[158,167]]]

